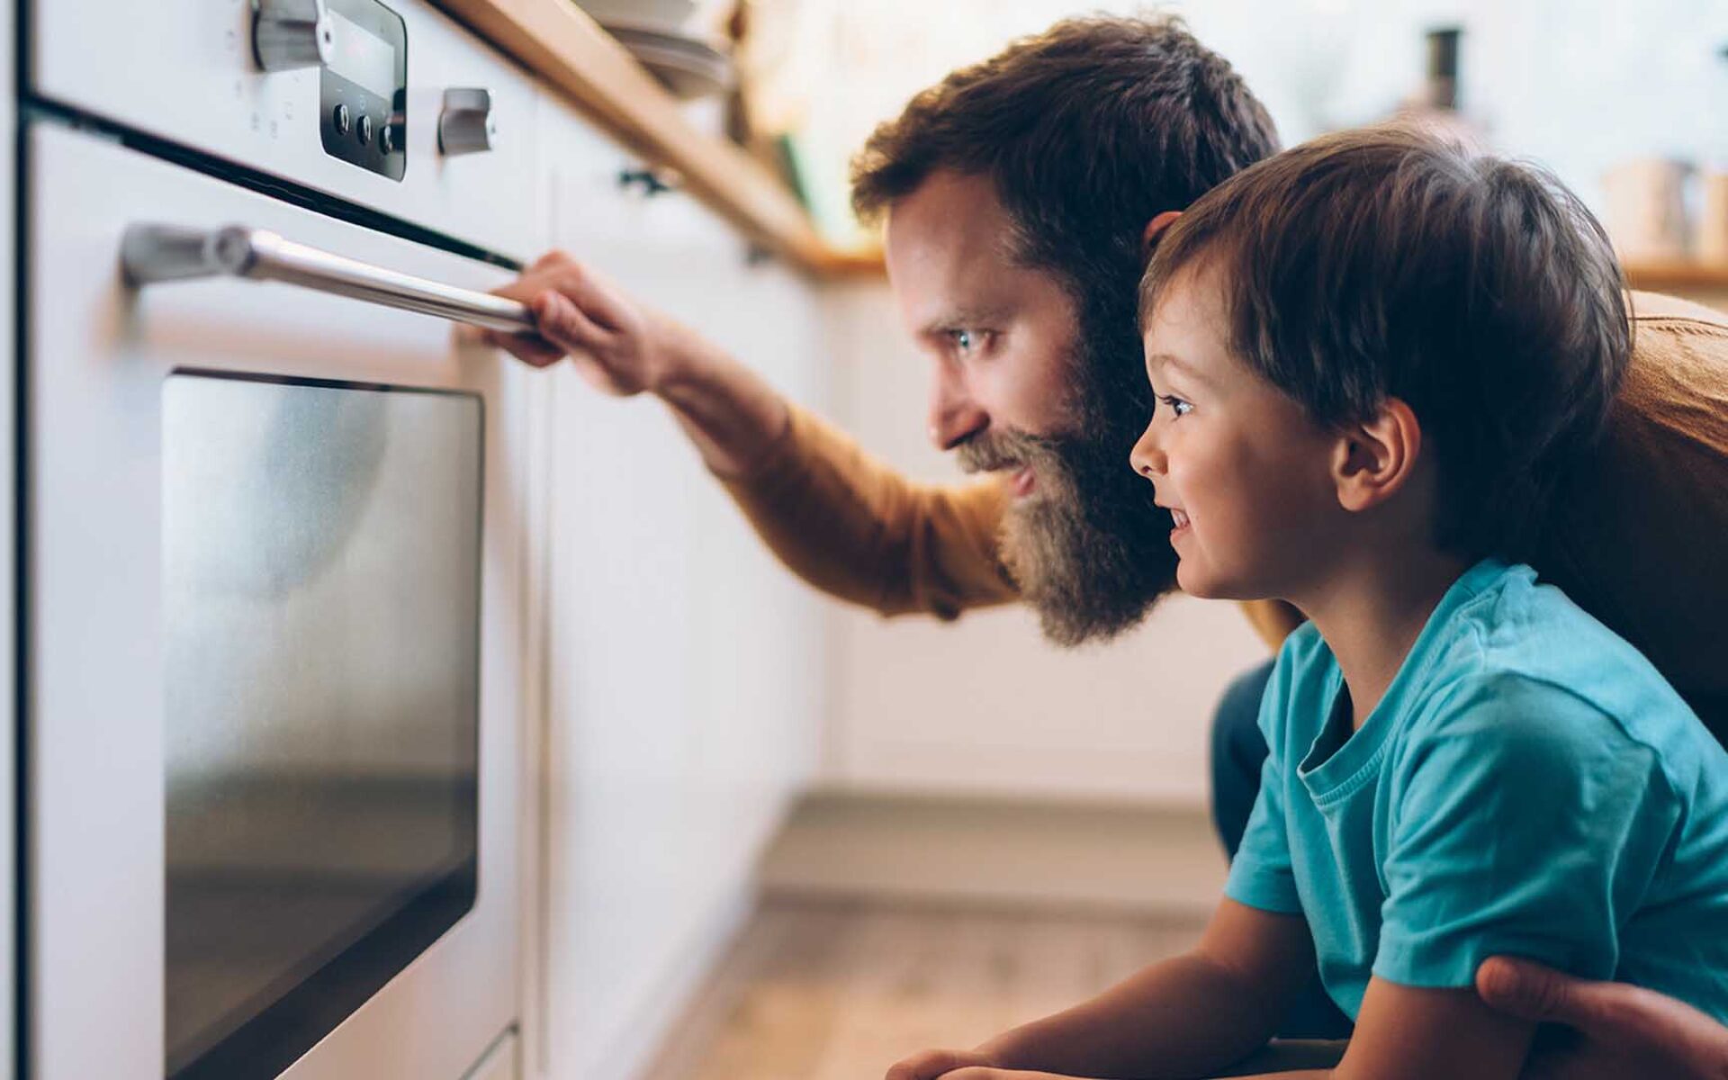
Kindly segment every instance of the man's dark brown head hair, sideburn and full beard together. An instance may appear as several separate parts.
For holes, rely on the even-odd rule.
[[[1275,150],[1267,111],[1180,22],[1094,17],[956,71],[854,162],[862,218],[938,171],[988,181],[1006,251],[1073,304],[1064,430],[971,442],[1039,454],[1049,498],[1004,518],[1002,553],[1052,641],[1106,639],[1175,588],[1170,511],[1123,465],[1153,408],[1134,321],[1140,235]]]

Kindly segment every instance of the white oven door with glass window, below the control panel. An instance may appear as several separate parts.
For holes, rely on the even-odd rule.
[[[29,1075],[456,1080],[517,1020],[518,375],[119,256],[508,275],[59,126],[26,176]]]

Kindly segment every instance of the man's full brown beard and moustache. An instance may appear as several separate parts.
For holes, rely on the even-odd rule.
[[[1032,467],[1033,492],[1002,520],[1002,563],[1063,646],[1137,626],[1175,588],[1177,567],[1170,511],[1128,467],[1151,404],[1144,391],[1102,385],[1101,358],[1075,359],[1073,434],[983,432],[957,448],[968,472]]]

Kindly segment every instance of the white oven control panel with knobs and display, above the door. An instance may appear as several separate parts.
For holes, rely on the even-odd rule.
[[[544,244],[529,138],[539,93],[439,3],[38,2],[29,93],[252,176],[530,259]]]

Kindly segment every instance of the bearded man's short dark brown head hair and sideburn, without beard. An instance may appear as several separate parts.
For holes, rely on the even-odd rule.
[[[852,206],[876,218],[940,169],[988,178],[1016,256],[1054,273],[1113,368],[1087,375],[1144,418],[1140,233],[1277,149],[1265,107],[1178,19],[1066,19],[878,126],[852,164]]]

